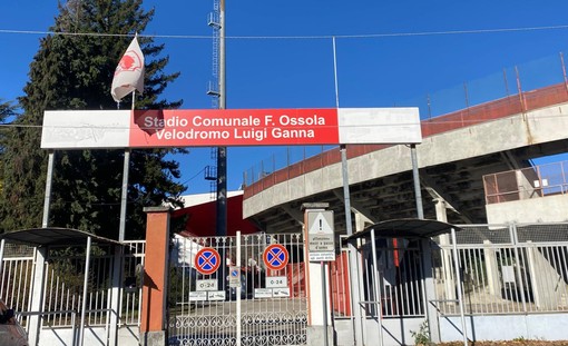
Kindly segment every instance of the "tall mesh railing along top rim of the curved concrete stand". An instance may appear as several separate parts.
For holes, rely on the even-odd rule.
[[[428,137],[441,129],[471,126],[494,119],[503,112],[519,113],[542,108],[554,102],[566,102],[568,82],[562,53],[549,56],[502,71],[452,86],[419,97],[382,102],[392,107],[418,107],[423,121],[422,135]],[[558,88],[555,88],[558,86]],[[530,90],[530,91],[527,91]],[[564,95],[562,95],[564,93]],[[296,146],[275,148],[275,154],[263,159],[243,175],[246,196],[262,190],[263,181],[270,187],[281,181],[281,176],[297,176],[310,171],[309,159],[326,160],[333,146]],[[336,151],[336,150],[335,150]],[[339,157],[339,154],[337,154]],[[275,172],[278,171],[278,175]],[[270,179],[266,177],[270,176]],[[264,184],[264,180],[267,180]],[[252,188],[249,188],[252,187]],[[251,190],[251,191],[249,191]]]

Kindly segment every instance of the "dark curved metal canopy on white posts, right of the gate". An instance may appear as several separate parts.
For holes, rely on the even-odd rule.
[[[417,239],[421,243],[422,248],[422,265],[425,266],[427,264],[432,263],[432,253],[429,246],[429,243],[431,241],[430,238],[437,237],[440,235],[451,234],[452,239],[452,246],[453,246],[453,261],[454,261],[454,269],[456,269],[456,278],[458,281],[458,301],[460,305],[460,317],[461,317],[461,327],[462,327],[462,335],[463,335],[463,345],[468,345],[468,334],[466,328],[466,318],[463,313],[463,298],[462,298],[462,287],[461,287],[461,274],[460,274],[460,265],[459,265],[459,257],[458,257],[458,248],[457,248],[457,241],[456,241],[456,231],[461,230],[461,228],[443,223],[438,220],[429,220],[429,219],[413,219],[413,218],[403,218],[403,219],[392,219],[392,220],[385,220],[381,223],[376,223],[374,225],[371,225],[366,227],[362,231],[358,231],[344,240],[347,243],[355,243],[358,239],[361,238],[371,238],[371,246],[373,254],[376,254],[375,248],[375,237],[380,238],[405,238],[405,239]],[[376,268],[376,256],[373,256],[374,267]],[[425,266],[427,268],[431,268],[431,265]],[[424,271],[425,273],[425,271]],[[431,278],[430,278],[431,280]],[[430,293],[433,291],[433,284],[430,283],[429,285],[427,283],[427,298]],[[379,293],[380,296],[380,293]],[[434,300],[435,296],[431,296]],[[430,307],[430,305],[429,305]],[[438,327],[438,320],[434,319],[435,315],[432,310],[428,314],[428,322],[429,326],[435,326]],[[435,323],[434,323],[435,322]],[[383,344],[383,337],[382,337],[382,318],[379,319],[380,323],[380,345]],[[430,330],[432,335],[432,330]],[[438,334],[438,332],[435,332]],[[439,338],[439,336],[438,336]],[[437,342],[437,340],[434,340]],[[439,340],[438,340],[439,342]]]

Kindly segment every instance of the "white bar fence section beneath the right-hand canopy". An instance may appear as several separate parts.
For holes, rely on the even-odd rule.
[[[417,241],[380,238],[374,250],[370,241],[361,241],[359,260],[362,271],[354,280],[359,281],[363,300],[351,301],[351,264],[343,250],[330,268],[334,316],[351,317],[353,309],[360,307],[365,316],[373,318],[423,316],[424,275],[420,256]]]

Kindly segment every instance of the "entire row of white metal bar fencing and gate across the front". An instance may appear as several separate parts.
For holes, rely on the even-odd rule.
[[[466,314],[568,312],[567,223],[460,227],[462,230],[457,233],[457,248]],[[330,289],[335,318],[352,316],[352,280],[361,281],[365,301],[381,301],[381,310],[376,304],[365,305],[368,316],[381,313],[382,317],[388,318],[424,314],[424,274],[418,265],[418,248],[404,240],[396,240],[396,244],[392,243],[392,239],[382,241],[383,246],[376,251],[379,276],[371,270],[373,251],[369,250],[369,245],[362,244],[360,247],[361,278],[349,277],[350,264],[345,254],[340,254],[336,260],[331,263]],[[268,337],[282,337],[282,329],[265,328],[266,324],[275,326],[276,322],[290,323],[290,328],[286,329],[290,333],[305,330],[306,283],[304,249],[300,235],[243,236],[238,251],[234,237],[189,238],[180,244],[178,266],[170,269],[169,312],[170,316],[177,318],[170,319],[170,335],[187,336],[188,328],[196,326],[197,322],[207,322],[206,324],[213,327],[216,323],[224,325],[227,318],[234,322],[237,299],[243,301],[242,318],[246,322],[242,324],[242,330],[251,340],[261,343]],[[271,271],[264,266],[263,251],[271,244],[282,244],[288,251],[291,263],[281,270]],[[239,267],[238,285],[228,286],[231,266],[225,267],[224,273],[209,276],[195,270],[195,255],[205,246],[219,248],[223,257],[226,256],[231,264]],[[442,315],[459,314],[460,310],[452,246],[447,236],[437,238],[434,243],[432,261],[437,299],[428,304],[435,304]],[[120,319],[123,325],[139,325],[144,248],[144,241],[131,241],[126,249]],[[84,259],[80,253],[70,251],[59,249],[48,257],[43,325],[72,326],[74,317],[81,306],[79,288],[82,288]],[[90,326],[107,323],[110,295],[109,256],[108,250],[101,247],[91,257],[87,301],[87,323]],[[33,258],[33,248],[8,244],[0,273],[0,298],[17,312],[25,313],[23,325],[28,316],[26,313],[32,313],[30,295]],[[197,286],[207,284],[210,279],[218,283],[219,277],[223,297],[219,300],[203,299],[203,289],[197,289]],[[281,297],[274,295],[274,289],[266,287],[266,279],[271,277],[285,278],[286,287],[278,289],[278,294],[283,291]],[[379,296],[372,289],[374,283],[380,284],[381,299],[376,299]],[[202,293],[196,293],[198,290]],[[280,336],[271,336],[270,330],[276,329],[280,330]]]

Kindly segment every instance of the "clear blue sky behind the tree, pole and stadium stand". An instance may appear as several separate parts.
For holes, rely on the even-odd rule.
[[[155,0],[145,7],[155,7],[156,14],[144,34],[158,36],[170,57],[168,70],[182,72],[165,97],[183,99],[186,109],[210,108],[213,1]],[[554,65],[560,52],[568,53],[567,12],[567,1],[227,0],[227,108],[334,107],[333,36],[341,107],[412,106],[425,95],[463,93],[464,82],[471,99],[482,98],[487,90],[476,91],[476,81],[498,80],[506,69],[513,88],[515,66],[527,67],[523,89],[542,76],[543,83],[559,82],[561,71]],[[6,101],[22,93],[41,37],[10,31],[47,31],[57,1],[1,1],[0,13],[0,99]],[[461,99],[440,103],[463,107]],[[228,188],[241,185],[243,171],[283,150],[229,148]],[[188,194],[209,191],[202,174],[214,164],[209,151],[196,148],[179,158]]]

